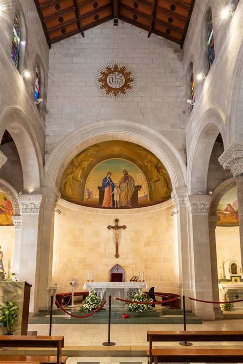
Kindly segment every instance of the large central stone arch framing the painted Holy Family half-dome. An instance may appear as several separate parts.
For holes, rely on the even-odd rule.
[[[58,188],[64,170],[74,156],[90,145],[107,140],[125,140],[144,146],[165,165],[173,188],[185,185],[185,162],[172,143],[147,126],[121,120],[100,120],[82,126],[58,142],[45,165],[45,185]]]

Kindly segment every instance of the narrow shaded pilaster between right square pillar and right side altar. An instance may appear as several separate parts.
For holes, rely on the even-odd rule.
[[[218,292],[218,265],[217,265],[217,247],[215,229],[219,218],[217,216],[209,216],[209,243],[210,243],[210,257],[211,257],[211,272],[212,272],[212,287],[213,287],[213,301],[219,301]],[[219,304],[213,305],[215,318],[224,318],[224,312],[221,310]]]

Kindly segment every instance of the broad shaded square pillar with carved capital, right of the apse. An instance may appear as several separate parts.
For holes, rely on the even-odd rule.
[[[213,301],[208,224],[211,200],[209,195],[189,195],[186,199],[190,222],[191,294],[205,301]],[[215,318],[212,304],[193,301],[193,311],[205,320]]]

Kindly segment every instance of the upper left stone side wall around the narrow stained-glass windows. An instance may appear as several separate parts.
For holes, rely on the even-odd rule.
[[[11,58],[14,11],[22,24],[24,40],[21,42],[19,70]],[[47,94],[49,48],[33,1],[4,0],[0,11],[0,138],[6,129],[4,114],[8,110],[19,110],[29,123],[44,154],[45,148],[45,103],[37,110],[34,105],[35,67],[39,64],[42,76],[42,97]],[[24,55],[24,56],[23,56]],[[20,72],[27,69],[29,79],[23,79]],[[3,113],[3,114],[2,114]],[[16,120],[18,121],[18,119]]]

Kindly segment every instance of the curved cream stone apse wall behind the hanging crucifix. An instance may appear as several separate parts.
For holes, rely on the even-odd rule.
[[[109,271],[121,265],[126,281],[138,271],[145,272],[148,287],[164,292],[179,292],[176,219],[170,216],[171,201],[134,210],[94,209],[64,200],[55,214],[53,283],[58,291],[69,291],[76,277],[79,290],[93,271],[94,281],[109,282]],[[119,258],[115,258],[114,231],[107,229],[119,219],[127,228],[120,233]],[[77,289],[77,290],[78,290]]]

